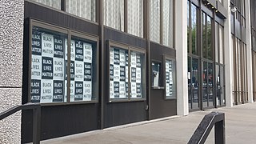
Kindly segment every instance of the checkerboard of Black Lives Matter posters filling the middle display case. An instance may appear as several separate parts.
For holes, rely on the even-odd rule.
[[[130,95],[129,95],[130,69]],[[142,98],[142,54],[110,47],[110,99]]]

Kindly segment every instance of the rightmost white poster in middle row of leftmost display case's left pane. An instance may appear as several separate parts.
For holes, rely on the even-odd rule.
[[[64,80],[63,58],[54,58],[54,80]]]

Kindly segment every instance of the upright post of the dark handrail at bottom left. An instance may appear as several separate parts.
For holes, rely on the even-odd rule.
[[[41,134],[41,106],[37,106],[33,110],[33,143],[40,143]]]

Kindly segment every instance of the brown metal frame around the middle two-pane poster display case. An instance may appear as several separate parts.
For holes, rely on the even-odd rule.
[[[146,101],[146,87],[144,87],[144,90],[142,90],[142,94],[144,94],[144,96],[142,95],[142,98],[131,98],[131,94],[130,94],[130,90],[131,90],[131,86],[130,86],[130,52],[134,51],[134,52],[138,52],[141,54],[144,54],[144,69],[146,70],[146,50],[142,50],[139,47],[135,47],[135,46],[129,46],[120,42],[115,42],[112,40],[107,40],[107,50],[106,50],[106,54],[107,54],[107,60],[106,60],[106,71],[108,72],[106,78],[106,92],[107,92],[107,101],[109,103],[114,103],[114,102],[144,102]],[[110,49],[111,47],[114,46],[116,48],[122,49],[122,50],[128,50],[128,97],[127,98],[110,98]],[[143,79],[146,80],[146,74],[141,76],[142,78],[142,86],[146,86],[146,82],[143,83]]]

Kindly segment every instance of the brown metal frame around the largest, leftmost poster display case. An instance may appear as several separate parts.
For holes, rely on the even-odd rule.
[[[33,26],[37,26],[37,27],[40,27],[42,29],[46,29],[46,30],[53,30],[54,32],[58,32],[58,33],[62,33],[62,34],[66,34],[67,35],[67,66],[66,66],[66,74],[67,74],[67,87],[70,87],[70,42],[71,42],[71,37],[74,36],[74,37],[78,37],[78,38],[82,38],[82,39],[85,39],[86,42],[90,42],[90,43],[95,43],[97,46],[95,47],[97,50],[96,50],[96,59],[97,59],[97,62],[99,62],[99,38],[97,36],[94,36],[94,35],[91,35],[91,34],[85,34],[85,33],[82,33],[82,32],[79,32],[79,31],[75,31],[75,30],[70,30],[70,29],[67,29],[67,28],[63,28],[61,26],[55,26],[55,25],[52,25],[52,24],[49,24],[49,23],[46,23],[46,22],[41,22],[41,21],[38,21],[38,20],[35,20],[33,18],[30,18],[30,24],[29,24],[29,63],[28,63],[28,87],[27,87],[27,101],[28,102],[31,102],[31,94],[30,94],[30,90],[31,90],[31,86],[30,86],[30,83],[31,83],[31,60],[32,60],[32,28]],[[94,48],[94,49],[95,49]],[[66,51],[65,51],[65,46],[63,47],[63,59],[65,61],[65,54],[66,54]],[[64,62],[66,64],[66,62]],[[97,66],[97,75],[99,75],[99,66]],[[42,79],[42,78],[41,78]],[[92,78],[93,79],[93,78]],[[54,80],[54,79],[53,79]],[[41,103],[41,102],[34,102],[34,103],[39,103],[41,106],[60,106],[60,105],[74,105],[74,104],[86,104],[86,103],[98,103],[98,98],[99,98],[99,94],[96,95],[96,99],[95,100],[91,100],[91,101],[78,101],[78,102],[70,102],[70,88],[67,88],[66,89],[66,86],[65,86],[65,78],[63,79],[63,82],[64,82],[64,87],[63,87],[63,102],[45,102],[45,103]],[[93,82],[93,80],[92,80]],[[97,85],[99,83],[99,79],[97,79]],[[93,86],[93,84],[92,84]],[[96,88],[97,90],[99,90],[99,86]],[[66,102],[64,101],[65,100],[65,90],[66,90]],[[93,89],[92,89],[93,90]],[[98,93],[98,91],[97,91]],[[93,91],[92,91],[92,95],[93,95]]]

